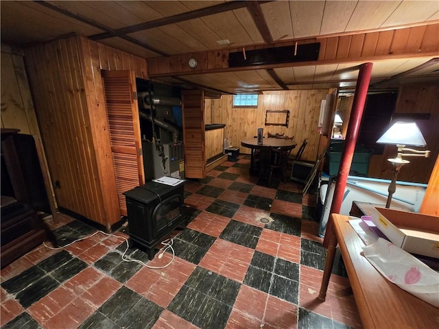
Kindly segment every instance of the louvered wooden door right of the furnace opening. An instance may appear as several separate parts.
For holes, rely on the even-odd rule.
[[[204,156],[204,90],[182,92],[183,140],[185,142],[185,176],[206,177]]]

